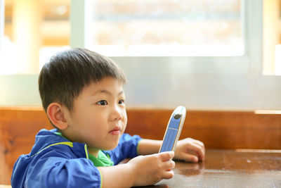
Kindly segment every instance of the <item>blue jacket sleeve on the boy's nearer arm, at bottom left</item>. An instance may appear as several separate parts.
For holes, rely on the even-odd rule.
[[[67,158],[59,153],[45,153],[30,163],[25,187],[101,187],[100,172],[89,159]]]

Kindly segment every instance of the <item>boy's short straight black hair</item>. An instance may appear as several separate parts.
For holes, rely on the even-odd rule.
[[[113,77],[126,83],[121,68],[110,58],[87,49],[70,49],[52,56],[41,69],[39,93],[42,105],[58,102],[70,111],[75,97],[91,82]]]

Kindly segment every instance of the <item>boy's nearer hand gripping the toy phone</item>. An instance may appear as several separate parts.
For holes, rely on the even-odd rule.
[[[138,156],[131,159],[128,165],[134,173],[134,186],[144,186],[155,184],[162,179],[170,179],[174,176],[174,171],[171,170],[175,167],[174,151],[152,154],[149,156]]]

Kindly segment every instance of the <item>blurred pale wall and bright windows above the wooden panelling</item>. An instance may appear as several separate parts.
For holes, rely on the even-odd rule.
[[[0,0],[0,106],[41,106],[55,52],[110,56],[133,107],[281,108],[280,0]]]

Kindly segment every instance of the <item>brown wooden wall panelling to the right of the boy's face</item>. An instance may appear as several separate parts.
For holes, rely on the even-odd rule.
[[[163,139],[171,110],[131,109],[126,132]],[[192,137],[208,149],[281,149],[281,115],[244,111],[188,111],[181,139]]]

